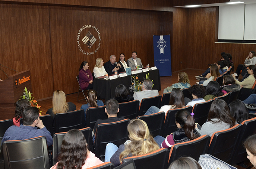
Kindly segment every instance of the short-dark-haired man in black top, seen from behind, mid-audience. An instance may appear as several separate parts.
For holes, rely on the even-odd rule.
[[[101,123],[111,123],[111,122],[116,122],[116,121],[120,121],[120,120],[124,120],[124,117],[117,117],[117,113],[119,112],[119,104],[118,101],[113,99],[110,99],[106,102],[106,108],[105,108],[105,113],[107,113],[108,118],[105,120],[100,120],[98,119],[94,125],[94,129],[93,132],[95,134],[96,129],[98,124]]]

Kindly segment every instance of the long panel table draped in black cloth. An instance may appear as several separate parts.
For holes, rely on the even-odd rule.
[[[135,75],[128,75],[126,77],[118,77],[117,79],[104,79],[104,78],[95,78],[94,79],[94,90],[97,91],[98,97],[101,99],[105,99],[105,101],[110,100],[111,98],[115,97],[115,90],[117,85],[123,84],[127,87],[127,89],[130,91],[132,90],[132,82],[131,77],[137,76],[140,79],[140,81],[144,81],[146,78],[146,74],[149,73],[149,77],[151,80],[153,80],[153,89],[161,90],[161,82],[160,82],[160,76],[159,76],[159,70],[152,70],[148,72],[142,72]],[[130,95],[133,95],[133,91],[130,91]]]

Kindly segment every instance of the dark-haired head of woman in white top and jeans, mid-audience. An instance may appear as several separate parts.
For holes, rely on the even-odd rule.
[[[174,88],[171,91],[169,105],[173,105],[175,108],[181,108],[185,106],[184,95],[180,89]]]

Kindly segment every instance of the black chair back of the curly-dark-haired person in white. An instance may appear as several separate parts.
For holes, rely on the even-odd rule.
[[[206,122],[213,101],[214,100],[211,99],[203,103],[197,103],[194,105],[192,111],[195,114],[195,122],[198,123],[200,126],[202,126],[203,123]]]

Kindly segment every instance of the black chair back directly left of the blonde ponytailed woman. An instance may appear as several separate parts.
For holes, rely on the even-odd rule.
[[[98,124],[95,132],[95,155],[104,161],[105,149],[107,143],[116,144],[118,147],[120,144],[126,142],[128,138],[127,125],[130,119],[124,119],[112,123]]]

